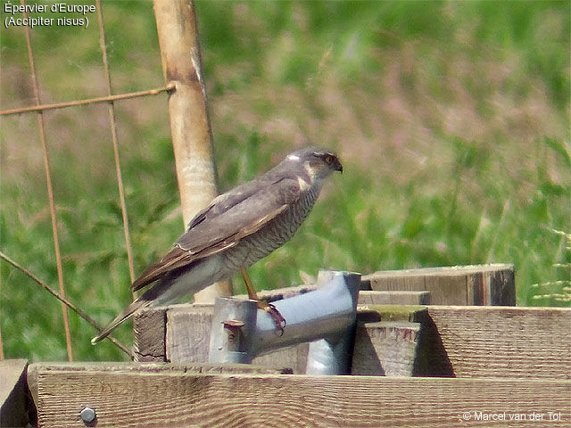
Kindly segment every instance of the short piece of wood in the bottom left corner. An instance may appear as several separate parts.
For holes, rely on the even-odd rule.
[[[26,359],[0,360],[0,426],[27,426]]]

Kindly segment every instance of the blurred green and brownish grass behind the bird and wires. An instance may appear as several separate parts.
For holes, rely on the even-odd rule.
[[[291,243],[251,268],[254,284],[513,262],[518,304],[569,306],[571,239],[557,232],[571,233],[568,2],[198,1],[197,12],[222,190],[308,139],[345,167]],[[103,2],[103,17],[113,92],[161,86],[152,4]],[[33,29],[32,43],[44,103],[103,95],[95,21]],[[31,105],[23,29],[2,28],[0,45],[1,108]],[[166,99],[116,109],[140,273],[182,232]],[[66,291],[104,324],[130,300],[106,108],[45,119]],[[2,251],[55,286],[37,119],[0,120]],[[59,302],[4,263],[0,280],[6,358],[65,359]],[[76,358],[125,358],[70,321]],[[131,340],[128,327],[117,336]]]

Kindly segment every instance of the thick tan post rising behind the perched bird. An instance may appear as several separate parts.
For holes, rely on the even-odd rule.
[[[154,0],[164,78],[175,83],[169,96],[170,133],[185,227],[218,194],[212,132],[193,0]],[[231,294],[228,282],[194,295],[214,301]]]

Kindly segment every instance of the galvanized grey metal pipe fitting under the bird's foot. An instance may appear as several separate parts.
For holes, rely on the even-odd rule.
[[[325,340],[311,344],[308,356],[311,373],[346,373],[357,313],[360,274],[322,270],[319,271],[318,285],[319,288],[313,292],[273,302],[287,323],[281,335],[274,318],[267,312],[254,310],[255,317],[252,317],[255,301],[218,298],[212,319],[209,360],[249,363],[255,356],[269,350]],[[232,349],[235,344],[228,343],[228,327],[224,323],[228,324],[229,321],[236,325],[244,324],[238,327],[241,330],[239,350]]]

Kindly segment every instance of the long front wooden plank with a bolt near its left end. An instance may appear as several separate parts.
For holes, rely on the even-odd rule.
[[[53,428],[84,427],[87,405],[98,428],[519,428],[510,417],[532,412],[544,426],[571,421],[571,382],[556,380],[52,370],[38,392],[38,426]]]

